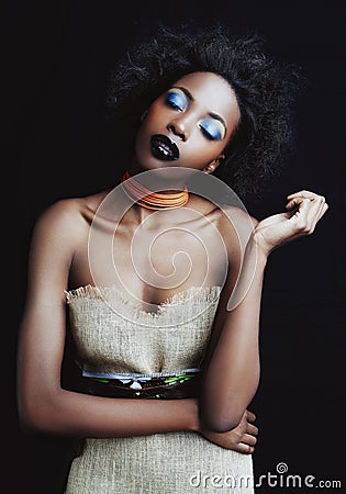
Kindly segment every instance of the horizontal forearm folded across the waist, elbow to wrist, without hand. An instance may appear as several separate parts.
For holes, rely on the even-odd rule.
[[[109,398],[58,390],[21,414],[24,427],[75,437],[126,437],[198,429],[198,404],[187,400]]]

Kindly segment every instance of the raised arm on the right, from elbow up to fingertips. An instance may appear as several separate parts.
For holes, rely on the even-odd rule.
[[[253,400],[259,383],[259,313],[265,267],[269,254],[303,235],[311,234],[327,210],[324,198],[302,191],[288,197],[287,213],[256,224],[248,237],[241,276],[234,287],[232,265],[215,319],[215,336],[205,363],[200,414],[205,427],[215,433],[231,430]],[[232,300],[231,299],[231,300]]]

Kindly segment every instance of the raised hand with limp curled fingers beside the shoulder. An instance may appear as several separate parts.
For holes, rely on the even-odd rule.
[[[306,190],[290,194],[287,200],[287,212],[263,220],[254,229],[253,238],[266,255],[295,238],[311,235],[328,209],[323,195]]]

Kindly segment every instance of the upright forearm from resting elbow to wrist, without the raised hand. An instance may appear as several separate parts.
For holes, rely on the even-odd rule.
[[[227,313],[204,370],[200,414],[211,430],[238,424],[259,382],[259,313],[266,256],[249,243],[237,285],[238,303]]]

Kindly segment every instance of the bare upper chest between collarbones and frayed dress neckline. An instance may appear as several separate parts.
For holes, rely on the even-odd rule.
[[[75,284],[118,287],[159,304],[190,287],[222,285],[228,255],[217,221],[120,224],[89,235],[74,260]]]

